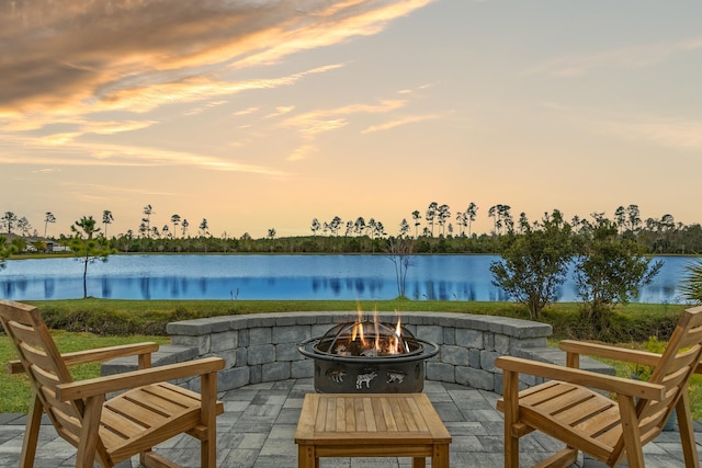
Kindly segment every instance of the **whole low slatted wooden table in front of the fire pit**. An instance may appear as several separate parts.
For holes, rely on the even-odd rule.
[[[451,434],[424,393],[308,393],[295,431],[298,467],[321,457],[412,457],[449,468]]]

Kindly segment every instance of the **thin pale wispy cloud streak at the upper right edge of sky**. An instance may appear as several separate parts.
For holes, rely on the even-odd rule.
[[[599,68],[644,68],[664,64],[673,57],[702,49],[702,37],[665,44],[649,44],[567,55],[539,64],[523,75],[574,77]]]

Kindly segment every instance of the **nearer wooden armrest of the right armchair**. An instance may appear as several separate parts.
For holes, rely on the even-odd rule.
[[[495,359],[495,365],[503,370],[529,374],[553,380],[567,381],[593,387],[600,390],[612,391],[618,395],[643,398],[646,400],[661,401],[665,398],[666,387],[647,381],[632,380],[613,377],[589,370],[557,366],[512,356],[500,356]]]

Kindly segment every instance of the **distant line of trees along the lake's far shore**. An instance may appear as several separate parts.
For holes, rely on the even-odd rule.
[[[335,216],[329,220],[314,218],[309,227],[310,236],[279,238],[276,230],[270,228],[264,237],[254,239],[248,232],[238,237],[227,232],[214,236],[206,218],[202,218],[196,228],[178,214],[171,215],[166,222],[157,222],[151,205],[146,205],[140,215],[140,222],[134,230],[112,235],[109,233],[109,227],[114,222],[114,216],[112,212],[104,210],[99,236],[107,240],[109,248],[118,252],[382,253],[387,250],[389,241],[408,239],[414,253],[499,254],[503,249],[501,238],[523,235],[532,225],[525,213],[514,217],[509,205],[497,204],[487,209],[487,217],[491,219],[489,232],[476,233],[473,231],[478,215],[475,203],[454,213],[446,204],[431,202],[427,209],[414,210],[409,217],[403,218],[397,229],[388,229],[374,218],[366,220],[359,216],[344,221]],[[702,252],[700,224],[676,222],[670,214],[642,219],[637,205],[620,206],[613,215],[609,220],[618,236],[636,242],[646,254]],[[588,218],[574,216],[567,224],[577,235],[591,230],[602,219],[608,219],[603,213],[592,213]],[[0,217],[0,232],[5,235],[3,248],[7,249],[7,242],[11,242],[10,253],[43,251],[47,239],[68,246],[71,235],[47,238],[48,226],[56,220],[52,212],[46,212],[42,220],[44,236],[41,237],[26,217],[4,212]],[[0,254],[4,251],[0,250]]]

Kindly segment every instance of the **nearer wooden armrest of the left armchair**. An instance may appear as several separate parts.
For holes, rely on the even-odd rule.
[[[224,368],[220,357],[205,357],[185,363],[132,370],[105,377],[97,377],[56,387],[56,397],[61,401],[105,395],[111,391],[128,390],[159,381],[212,374]]]

